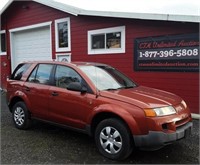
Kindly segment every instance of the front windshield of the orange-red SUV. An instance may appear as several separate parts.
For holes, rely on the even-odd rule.
[[[133,88],[136,84],[110,66],[79,66],[98,90]]]

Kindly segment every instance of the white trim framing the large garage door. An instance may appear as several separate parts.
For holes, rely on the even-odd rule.
[[[50,52],[52,52],[52,33],[51,33],[51,24],[52,24],[52,21],[49,21],[49,22],[44,22],[44,23],[39,23],[39,24],[34,24],[34,25],[30,25],[30,26],[23,26],[23,27],[19,27],[19,28],[14,28],[14,29],[10,29],[9,32],[10,32],[10,56],[11,56],[11,71],[13,72],[14,71],[14,50],[13,50],[13,38],[14,38],[14,33],[15,32],[20,32],[20,31],[24,31],[24,30],[31,30],[31,29],[35,29],[35,28],[42,28],[42,27],[45,27],[45,26],[49,26],[49,33],[50,33]],[[51,56],[52,58],[52,56]]]

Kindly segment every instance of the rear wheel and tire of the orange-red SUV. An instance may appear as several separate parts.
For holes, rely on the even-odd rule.
[[[24,102],[17,102],[12,108],[12,118],[15,127],[18,129],[28,129],[31,125],[30,113]]]

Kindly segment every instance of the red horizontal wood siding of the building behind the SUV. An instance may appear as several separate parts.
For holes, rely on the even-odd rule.
[[[26,5],[29,8],[22,9],[23,5]],[[65,17],[70,17],[71,22],[70,53],[72,55],[72,61],[92,61],[110,64],[123,71],[138,84],[166,90],[181,96],[188,103],[188,106],[193,113],[199,113],[199,73],[152,71],[136,72],[133,69],[134,40],[136,38],[199,33],[199,26],[195,23],[145,21],[93,16],[76,17],[36,2],[14,2],[2,16],[2,29],[7,30],[6,34],[8,49],[7,56],[1,56],[1,60],[5,60],[8,63],[6,67],[2,67],[1,65],[1,71],[3,75],[10,74],[9,29],[52,21],[52,58],[55,59],[56,54],[60,54],[60,52],[55,52],[54,21],[56,19]],[[88,30],[96,30],[116,26],[125,26],[126,28],[126,53],[88,55]],[[4,82],[4,79],[5,76],[2,78],[2,82]]]

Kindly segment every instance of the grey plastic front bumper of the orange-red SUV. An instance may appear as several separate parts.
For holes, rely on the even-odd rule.
[[[180,126],[174,133],[149,131],[148,135],[134,135],[135,146],[144,150],[156,150],[191,134],[192,122]]]

